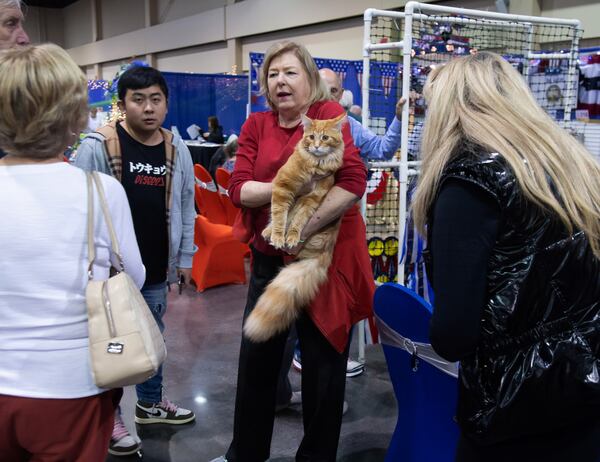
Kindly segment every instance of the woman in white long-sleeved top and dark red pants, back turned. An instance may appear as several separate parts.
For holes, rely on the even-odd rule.
[[[87,84],[56,45],[0,52],[0,458],[103,462],[120,390],[92,378],[85,290],[87,181],[63,161],[87,122]],[[144,267],[121,185],[101,175],[122,257]],[[110,236],[95,194],[93,274]]]

